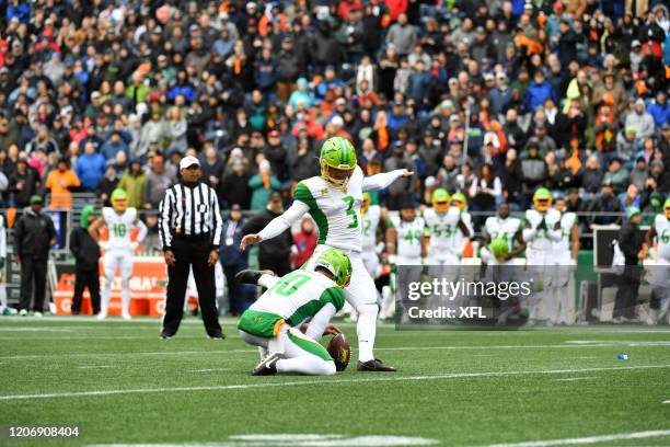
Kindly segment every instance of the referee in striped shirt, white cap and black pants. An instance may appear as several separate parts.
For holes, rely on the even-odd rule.
[[[195,157],[180,161],[181,183],[170,187],[159,208],[159,236],[168,264],[168,300],[161,339],[176,334],[182,321],[188,267],[198,288],[203,323],[210,339],[226,335],[216,305],[215,265],[219,261],[222,220],[217,193],[200,183],[200,162]]]

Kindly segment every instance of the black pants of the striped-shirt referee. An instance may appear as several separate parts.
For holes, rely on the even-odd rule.
[[[193,276],[198,289],[198,303],[205,330],[209,336],[221,336],[215,267],[207,265],[211,252],[209,237],[175,238],[172,243],[172,252],[174,253],[175,264],[174,267],[168,266],[168,301],[161,334],[172,336],[180,329],[184,312],[184,299],[186,298],[188,267],[193,266]]]

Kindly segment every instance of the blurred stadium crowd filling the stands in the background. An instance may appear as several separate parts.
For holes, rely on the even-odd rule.
[[[118,186],[152,210],[194,154],[224,208],[262,210],[337,135],[368,174],[416,172],[373,197],[389,209],[444,187],[522,210],[543,185],[571,211],[659,213],[662,3],[3,1],[2,205]]]

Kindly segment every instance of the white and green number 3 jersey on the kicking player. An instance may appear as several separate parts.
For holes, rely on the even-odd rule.
[[[362,182],[362,170],[356,167],[343,187],[332,185],[321,176],[298,183],[293,197],[309,206],[319,228],[320,244],[361,251]]]

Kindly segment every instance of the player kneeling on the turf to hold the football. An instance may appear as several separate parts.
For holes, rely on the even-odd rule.
[[[269,287],[242,313],[238,323],[242,340],[265,354],[252,375],[335,374],[335,363],[319,340],[324,332],[339,332],[330,322],[344,306],[343,289],[351,280],[351,261],[344,251],[322,252],[313,271],[299,270],[281,278],[258,271],[242,271],[236,278]],[[310,323],[302,333],[299,328],[307,320]]]

